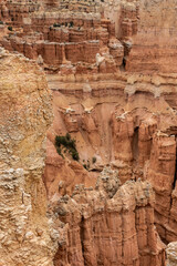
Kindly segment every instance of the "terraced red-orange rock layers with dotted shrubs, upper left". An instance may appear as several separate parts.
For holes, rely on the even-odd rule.
[[[30,59],[40,57],[46,68],[66,64],[70,72],[110,72],[122,65],[124,49],[114,23],[101,17],[101,1],[49,2],[3,1],[0,20],[12,31],[2,45]]]

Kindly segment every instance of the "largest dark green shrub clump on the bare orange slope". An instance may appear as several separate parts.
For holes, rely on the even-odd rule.
[[[65,136],[59,136],[59,135],[55,136],[55,147],[56,147],[56,152],[60,155],[62,155],[62,146],[69,151],[73,160],[80,161],[80,155],[79,155],[79,152],[76,151],[75,140],[72,140],[69,133],[66,133]],[[64,150],[64,153],[66,152],[65,150]]]

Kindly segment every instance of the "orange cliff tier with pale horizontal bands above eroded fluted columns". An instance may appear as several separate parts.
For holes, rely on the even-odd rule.
[[[156,192],[157,229],[164,241],[175,241],[176,74],[48,75],[48,80],[54,95],[50,140],[70,132],[90,176],[110,164],[118,168],[123,183],[148,180]]]

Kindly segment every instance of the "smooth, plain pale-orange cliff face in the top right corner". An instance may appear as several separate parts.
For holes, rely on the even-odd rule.
[[[176,73],[176,1],[139,1],[139,25],[127,70]]]

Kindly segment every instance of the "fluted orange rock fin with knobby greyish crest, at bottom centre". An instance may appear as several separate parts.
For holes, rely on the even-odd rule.
[[[147,182],[123,186],[116,171],[104,168],[96,190],[75,187],[54,207],[65,237],[54,265],[165,265],[164,244],[154,227],[155,195]]]

